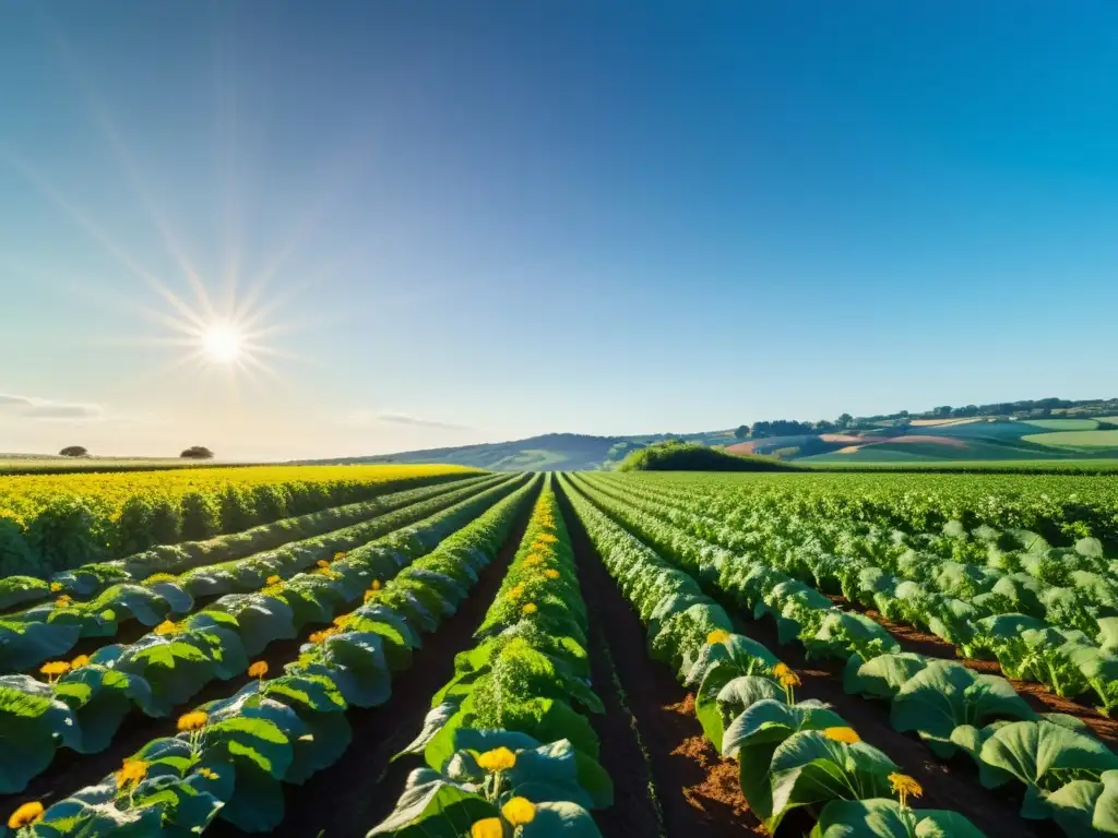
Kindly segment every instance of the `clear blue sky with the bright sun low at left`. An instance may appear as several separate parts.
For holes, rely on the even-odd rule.
[[[1111,0],[0,0],[0,451],[1112,397],[1116,79]]]

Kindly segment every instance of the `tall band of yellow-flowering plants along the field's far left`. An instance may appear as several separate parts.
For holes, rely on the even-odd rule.
[[[0,575],[197,541],[471,474],[457,466],[260,466],[0,477]]]

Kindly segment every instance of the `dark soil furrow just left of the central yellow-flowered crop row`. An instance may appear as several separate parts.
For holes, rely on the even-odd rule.
[[[458,612],[424,638],[413,665],[392,679],[386,704],[368,710],[350,708],[347,717],[353,741],[342,759],[313,775],[303,785],[285,785],[286,812],[272,832],[291,838],[354,838],[363,836],[392,811],[405,781],[421,756],[389,762],[423,727],[430,697],[454,675],[454,656],[473,648],[481,625],[528,527],[531,505],[525,507],[496,559],[484,570]],[[206,830],[214,836],[240,836],[228,823]]]

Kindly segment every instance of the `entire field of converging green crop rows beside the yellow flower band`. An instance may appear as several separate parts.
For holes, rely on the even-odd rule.
[[[9,835],[1118,835],[1118,477],[362,477],[0,580]]]

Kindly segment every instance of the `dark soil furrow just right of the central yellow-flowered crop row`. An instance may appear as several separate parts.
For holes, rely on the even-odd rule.
[[[559,494],[590,611],[591,632],[606,638],[613,650],[617,679],[631,713],[626,726],[632,731],[635,724],[639,736],[634,750],[632,739],[620,727],[625,722],[619,721],[609,724],[619,730],[610,732],[609,739],[603,737],[603,763],[617,790],[614,807],[594,813],[603,836],[756,834],[760,827],[741,796],[737,764],[722,760],[703,739],[686,691],[666,666],[648,657],[639,618],[606,572],[567,498]],[[599,695],[610,692],[597,678],[595,689]],[[618,753],[612,753],[614,750]],[[661,812],[659,821],[654,820],[656,807],[647,787],[648,766]]]

